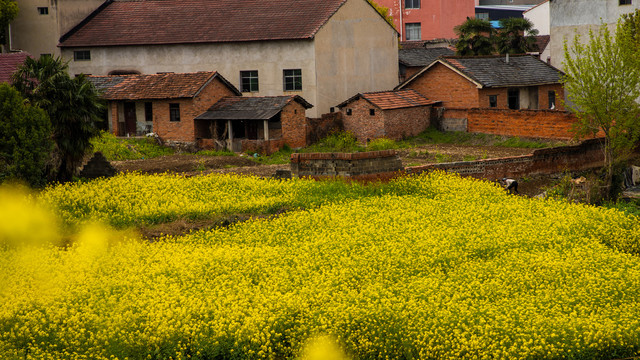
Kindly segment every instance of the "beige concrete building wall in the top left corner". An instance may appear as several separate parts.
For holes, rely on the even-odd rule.
[[[18,17],[11,23],[11,47],[38,57],[60,56],[58,40],[104,0],[19,0]],[[48,15],[40,15],[39,7],[47,7]]]

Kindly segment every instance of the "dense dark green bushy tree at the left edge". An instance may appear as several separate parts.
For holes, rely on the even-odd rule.
[[[43,186],[52,147],[47,114],[26,105],[7,83],[0,84],[0,182],[14,179]]]

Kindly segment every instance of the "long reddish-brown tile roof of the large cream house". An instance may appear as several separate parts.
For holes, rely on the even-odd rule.
[[[107,0],[62,47],[311,39],[347,0]]]

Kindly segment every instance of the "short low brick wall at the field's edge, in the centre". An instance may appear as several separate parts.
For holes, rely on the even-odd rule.
[[[293,177],[388,180],[403,170],[395,150],[362,153],[291,154]]]

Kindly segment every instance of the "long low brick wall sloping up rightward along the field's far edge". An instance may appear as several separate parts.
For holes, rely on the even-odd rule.
[[[604,164],[602,140],[585,140],[579,145],[535,150],[531,155],[500,159],[463,161],[408,167],[407,173],[445,170],[462,176],[484,179],[557,174],[564,171],[581,171]]]

